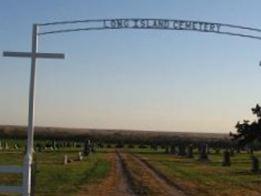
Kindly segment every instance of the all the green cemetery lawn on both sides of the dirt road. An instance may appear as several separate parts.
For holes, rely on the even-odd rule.
[[[96,153],[85,157],[83,161],[63,164],[65,154],[69,159],[76,160],[79,151],[80,148],[67,148],[52,152],[37,152],[35,155],[38,163],[36,195],[76,195],[84,192],[86,186],[101,183],[110,173],[112,164],[116,163],[108,160],[108,155],[115,151],[111,148],[97,150]],[[250,172],[250,155],[245,152],[235,153],[235,156],[231,157],[231,167],[222,167],[221,153],[211,153],[209,161],[200,162],[197,153],[194,153],[193,159],[189,159],[164,154],[163,149],[153,151],[149,148],[125,148],[120,152],[127,158],[127,166],[134,173],[142,168],[135,165],[135,159],[128,153],[141,158],[156,173],[164,176],[167,179],[165,179],[166,183],[172,182],[176,188],[178,187],[188,195],[261,195],[261,173]],[[255,152],[255,155],[261,158],[261,152]],[[0,165],[22,165],[23,162],[21,151],[2,151],[0,157]],[[129,161],[130,158],[132,161]],[[144,166],[143,169],[145,168]],[[136,176],[139,176],[139,171]],[[0,174],[1,185],[21,185],[21,183],[21,175]],[[146,192],[146,187],[143,188]],[[150,193],[149,189],[147,193]]]

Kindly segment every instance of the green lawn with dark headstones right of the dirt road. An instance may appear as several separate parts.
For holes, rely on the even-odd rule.
[[[231,167],[222,167],[222,154],[209,155],[209,161],[153,152],[147,149],[131,150],[145,159],[155,170],[165,175],[185,193],[191,195],[260,195],[261,174],[250,172],[250,155],[235,154]],[[261,153],[255,153],[259,158]]]

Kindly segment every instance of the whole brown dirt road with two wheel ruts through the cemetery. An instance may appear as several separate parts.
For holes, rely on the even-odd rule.
[[[106,159],[111,162],[108,176],[99,184],[85,186],[79,195],[185,195],[138,156],[117,150],[108,153]]]

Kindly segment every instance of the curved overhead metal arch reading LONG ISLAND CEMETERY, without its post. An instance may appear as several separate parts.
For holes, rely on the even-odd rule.
[[[74,24],[84,26],[81,28],[64,27]],[[178,30],[197,31],[203,33],[218,33],[231,36],[246,37],[261,40],[261,29],[240,25],[215,23],[196,20],[180,19],[155,19],[155,18],[118,18],[118,19],[91,19],[39,23],[39,27],[54,27],[52,30],[44,30],[38,35],[68,33],[75,31],[91,30],[117,30],[117,29],[151,29],[151,30]],[[62,28],[61,28],[62,26]]]

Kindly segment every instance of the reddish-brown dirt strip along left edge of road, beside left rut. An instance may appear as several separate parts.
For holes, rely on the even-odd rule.
[[[111,163],[109,174],[101,182],[84,185],[77,195],[134,196],[117,153],[107,153],[106,160]]]

